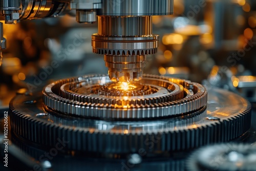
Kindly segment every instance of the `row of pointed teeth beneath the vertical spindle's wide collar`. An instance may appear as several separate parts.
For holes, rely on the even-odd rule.
[[[157,48],[145,50],[109,50],[109,49],[96,49],[93,48],[93,53],[101,55],[152,55],[157,53]]]

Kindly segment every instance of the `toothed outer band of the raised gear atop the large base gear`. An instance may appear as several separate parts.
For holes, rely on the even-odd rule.
[[[146,77],[145,77],[146,76]],[[154,117],[167,117],[194,112],[207,104],[207,91],[201,84],[191,83],[189,81],[177,78],[167,78],[152,75],[145,75],[146,78],[157,78],[167,81],[170,85],[175,83],[179,85],[179,90],[164,96],[156,95],[154,98],[142,96],[140,99],[105,99],[100,96],[84,96],[71,91],[84,80],[94,79],[102,76],[88,76],[83,79],[67,79],[56,81],[49,84],[43,92],[43,100],[46,106],[56,111],[79,115],[83,117],[96,117],[104,119],[141,119]],[[74,82],[69,82],[74,81]],[[65,83],[66,84],[65,86]],[[193,86],[194,95],[184,97],[184,87],[186,84]],[[111,101],[111,102],[110,102]],[[126,103],[131,109],[118,109],[115,105]],[[108,105],[106,105],[108,104]]]

